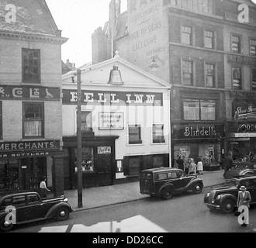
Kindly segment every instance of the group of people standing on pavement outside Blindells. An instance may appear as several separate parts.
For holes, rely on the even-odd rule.
[[[189,157],[188,162],[185,161],[185,157],[182,158],[182,156],[178,156],[178,159],[176,160],[176,164],[179,169],[182,171],[185,171],[186,174],[202,174],[203,171],[203,165],[202,165],[202,157],[198,156],[196,160],[194,160],[192,157]]]

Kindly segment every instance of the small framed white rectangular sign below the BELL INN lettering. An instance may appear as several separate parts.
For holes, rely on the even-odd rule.
[[[123,130],[123,112],[100,112],[99,113],[100,130]]]

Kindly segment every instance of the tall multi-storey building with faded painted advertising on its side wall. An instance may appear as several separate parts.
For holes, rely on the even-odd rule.
[[[210,170],[228,150],[234,158],[256,153],[254,3],[129,0],[127,7],[115,15],[114,47],[171,84],[172,160],[199,155]]]

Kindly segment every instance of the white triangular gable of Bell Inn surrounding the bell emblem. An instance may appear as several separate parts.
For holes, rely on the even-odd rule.
[[[119,86],[121,88],[171,88],[171,84],[120,58],[118,52],[110,60],[105,60],[99,64],[93,64],[87,67],[80,67],[81,84],[111,87],[112,85],[108,84],[109,73],[114,65],[119,67],[119,71],[122,74],[123,85]],[[62,82],[64,84],[71,83],[71,77],[74,73],[75,71],[70,71],[62,75]]]

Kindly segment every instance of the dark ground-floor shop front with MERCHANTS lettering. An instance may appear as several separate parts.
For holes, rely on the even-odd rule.
[[[0,143],[0,151],[0,194],[38,191],[43,177],[54,195],[61,194],[54,177],[56,157],[62,156],[59,140]]]

